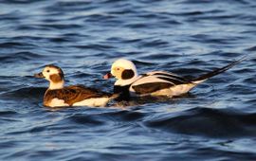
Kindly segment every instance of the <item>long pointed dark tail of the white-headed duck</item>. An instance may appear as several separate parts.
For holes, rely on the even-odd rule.
[[[200,76],[198,78],[193,79],[192,82],[197,84],[197,83],[203,82],[205,80],[208,80],[208,79],[210,79],[213,76],[216,76],[216,75],[218,75],[220,73],[225,72],[226,70],[229,70],[231,67],[233,67],[237,63],[243,62],[244,60],[246,60],[246,58],[247,57],[243,57],[243,58],[241,58],[241,59],[239,59],[239,60],[237,60],[237,61],[235,61],[233,63],[229,63],[228,65],[226,65],[224,67],[221,67],[221,68],[218,68],[216,70],[213,70],[210,73],[204,74],[204,75],[202,75],[202,76]]]

